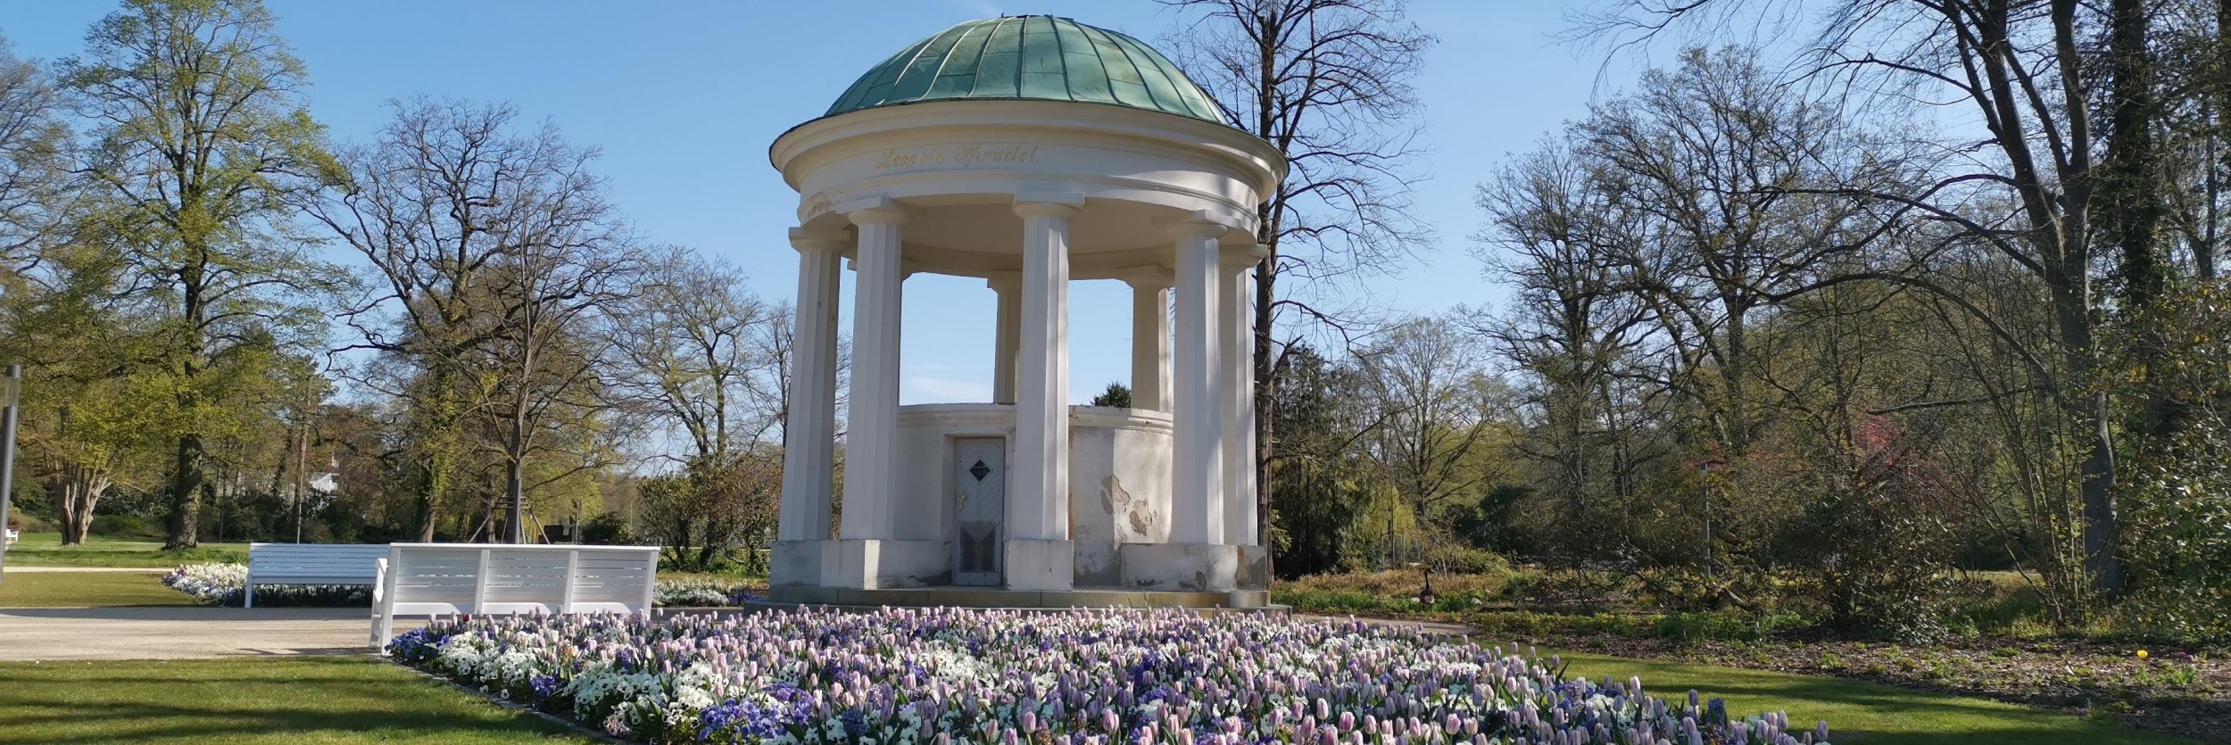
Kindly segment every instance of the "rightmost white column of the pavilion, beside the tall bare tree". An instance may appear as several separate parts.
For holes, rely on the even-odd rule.
[[[1216,341],[1225,384],[1225,542],[1256,544],[1254,480],[1254,254],[1232,254],[1225,261]]]

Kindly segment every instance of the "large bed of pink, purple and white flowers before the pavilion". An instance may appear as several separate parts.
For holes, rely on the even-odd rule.
[[[640,743],[1825,743],[1361,622],[1185,611],[480,616],[404,665]]]

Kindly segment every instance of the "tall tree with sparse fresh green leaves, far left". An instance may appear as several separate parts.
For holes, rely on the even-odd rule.
[[[62,85],[94,120],[91,199],[136,281],[170,301],[154,355],[181,413],[165,546],[192,546],[221,357],[319,326],[306,299],[346,277],[288,232],[283,201],[339,167],[259,0],[127,0],[62,62]]]

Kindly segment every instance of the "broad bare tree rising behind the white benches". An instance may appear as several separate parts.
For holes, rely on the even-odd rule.
[[[359,381],[406,401],[415,422],[415,529],[433,540],[440,509],[464,488],[469,424],[484,404],[471,366],[504,332],[498,270],[553,223],[578,212],[605,221],[609,207],[587,174],[596,149],[547,123],[520,132],[511,105],[413,98],[390,109],[377,143],[344,154],[348,187],[315,194],[303,212],[382,279],[341,321],[384,352]]]

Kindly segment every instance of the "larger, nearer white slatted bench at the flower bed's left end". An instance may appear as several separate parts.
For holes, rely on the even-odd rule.
[[[373,647],[395,616],[647,611],[656,580],[658,546],[388,544]]]

